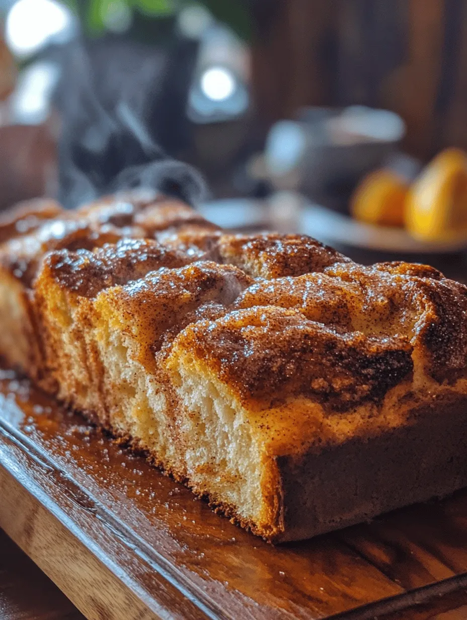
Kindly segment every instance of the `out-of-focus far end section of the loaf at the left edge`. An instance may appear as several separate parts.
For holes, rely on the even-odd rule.
[[[18,205],[0,220],[0,356],[38,381],[45,377],[32,285],[48,252],[92,250],[118,239],[150,238],[187,223],[216,228],[189,206],[153,192],[102,198],[76,211],[42,200]],[[193,257],[202,254],[198,249],[190,252]]]

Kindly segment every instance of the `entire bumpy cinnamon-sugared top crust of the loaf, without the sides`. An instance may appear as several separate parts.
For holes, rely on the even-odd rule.
[[[254,407],[344,411],[465,378],[467,288],[434,268],[363,267],[308,236],[229,234],[177,201],[127,198],[11,239],[0,266],[31,286],[42,265],[42,294],[52,278],[96,296],[143,361],[197,358]]]

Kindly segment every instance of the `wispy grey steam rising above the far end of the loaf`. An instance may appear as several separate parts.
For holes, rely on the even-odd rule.
[[[94,92],[92,66],[82,45],[69,48],[64,71],[68,80],[59,144],[59,199],[64,206],[73,208],[132,188],[158,190],[192,205],[202,200],[201,175],[154,144],[123,93],[112,110],[104,108]]]

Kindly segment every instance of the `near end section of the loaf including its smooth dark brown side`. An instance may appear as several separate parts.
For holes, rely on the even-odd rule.
[[[467,484],[465,287],[409,265],[332,272],[251,286],[167,359],[190,484],[273,541]]]

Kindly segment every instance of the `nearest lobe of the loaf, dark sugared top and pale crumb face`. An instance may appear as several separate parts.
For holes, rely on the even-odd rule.
[[[298,311],[267,306],[189,325],[166,366],[190,485],[242,525],[278,540],[296,537],[283,531],[287,489],[278,459],[296,459],[298,474],[308,451],[334,440],[324,401],[365,414],[407,379],[412,364],[403,340],[341,335]],[[334,394],[323,396],[331,374]],[[307,497],[314,494],[308,485]],[[338,515],[331,508],[328,516]],[[324,531],[311,512],[302,518],[305,537]]]

